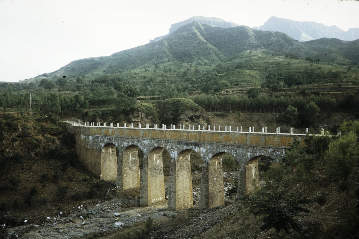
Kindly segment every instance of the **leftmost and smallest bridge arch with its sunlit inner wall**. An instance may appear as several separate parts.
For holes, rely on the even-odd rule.
[[[118,155],[119,150],[115,144],[107,143],[103,145],[101,149],[101,179],[116,181]]]

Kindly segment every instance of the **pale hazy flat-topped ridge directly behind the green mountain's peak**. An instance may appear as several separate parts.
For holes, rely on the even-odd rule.
[[[184,20],[184,21],[180,21],[178,23],[174,23],[171,24],[171,28],[168,31],[168,34],[162,36],[162,37],[156,37],[153,40],[150,40],[151,42],[157,42],[158,40],[167,37],[169,34],[173,33],[174,31],[176,31],[178,28],[190,24],[194,21],[197,21],[201,24],[207,24],[210,25],[211,27],[222,27],[222,28],[228,28],[228,27],[237,27],[239,26],[236,23],[232,23],[230,21],[225,21],[222,20],[220,18],[208,18],[205,16],[192,16],[190,19]]]

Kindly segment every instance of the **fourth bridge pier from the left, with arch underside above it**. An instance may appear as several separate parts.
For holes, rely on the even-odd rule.
[[[171,161],[168,190],[169,209],[179,211],[193,206],[192,153],[198,154],[195,150],[184,149],[178,153],[176,159]]]

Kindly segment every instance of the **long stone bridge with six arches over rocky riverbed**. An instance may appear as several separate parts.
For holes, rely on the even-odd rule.
[[[141,188],[140,206],[154,205],[165,200],[162,153],[167,150],[170,163],[168,208],[183,210],[193,206],[190,154],[198,153],[203,161],[201,175],[201,208],[224,206],[222,158],[232,155],[240,165],[238,195],[259,187],[258,161],[261,156],[278,159],[284,150],[298,138],[304,143],[305,134],[267,133],[265,128],[255,132],[254,127],[243,132],[242,127],[224,130],[210,126],[171,125],[166,129],[119,127],[112,123],[81,125],[66,124],[75,136],[78,158],[95,175],[116,182],[121,190]],[[139,154],[143,154],[140,175]]]

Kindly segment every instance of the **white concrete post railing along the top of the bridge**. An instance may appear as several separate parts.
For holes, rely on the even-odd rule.
[[[123,126],[120,126],[120,123],[117,124],[113,124],[110,123],[109,125],[107,125],[107,123],[101,123],[101,122],[85,122],[85,123],[81,123],[81,122],[69,122],[69,120],[67,120],[67,123],[72,124],[73,126],[83,126],[83,127],[100,127],[100,128],[104,128],[104,127],[109,127],[109,128],[122,128],[122,129],[148,129],[148,130],[186,130],[186,131],[196,131],[196,132],[221,132],[221,133],[242,133],[242,134],[280,134],[280,135],[311,135],[308,134],[308,128],[306,128],[306,133],[305,134],[295,134],[294,133],[294,128],[290,128],[290,133],[280,133],[280,127],[275,129],[275,132],[273,133],[269,133],[267,132],[267,127],[262,127],[261,132],[255,132],[255,128],[253,127],[249,127],[247,128],[248,131],[243,131],[243,127],[242,126],[237,126],[237,128],[232,131],[232,126],[225,126],[224,129],[222,128],[221,130],[221,126],[218,126],[218,128],[216,129],[216,126],[210,126],[208,125],[207,127],[205,127],[204,125],[202,125],[202,127],[200,125],[188,125],[188,127],[185,127],[185,125],[180,125],[179,128],[176,128],[176,126],[174,124],[171,124],[169,128],[167,128],[167,125],[162,124],[162,127],[159,128],[157,124],[154,124],[153,126],[146,124],[145,127],[141,127],[141,124],[138,124],[138,126],[134,126],[134,124],[132,123],[131,125],[126,125],[123,124]],[[150,128],[152,127],[152,128]],[[324,133],[324,130],[322,129],[322,134]]]

